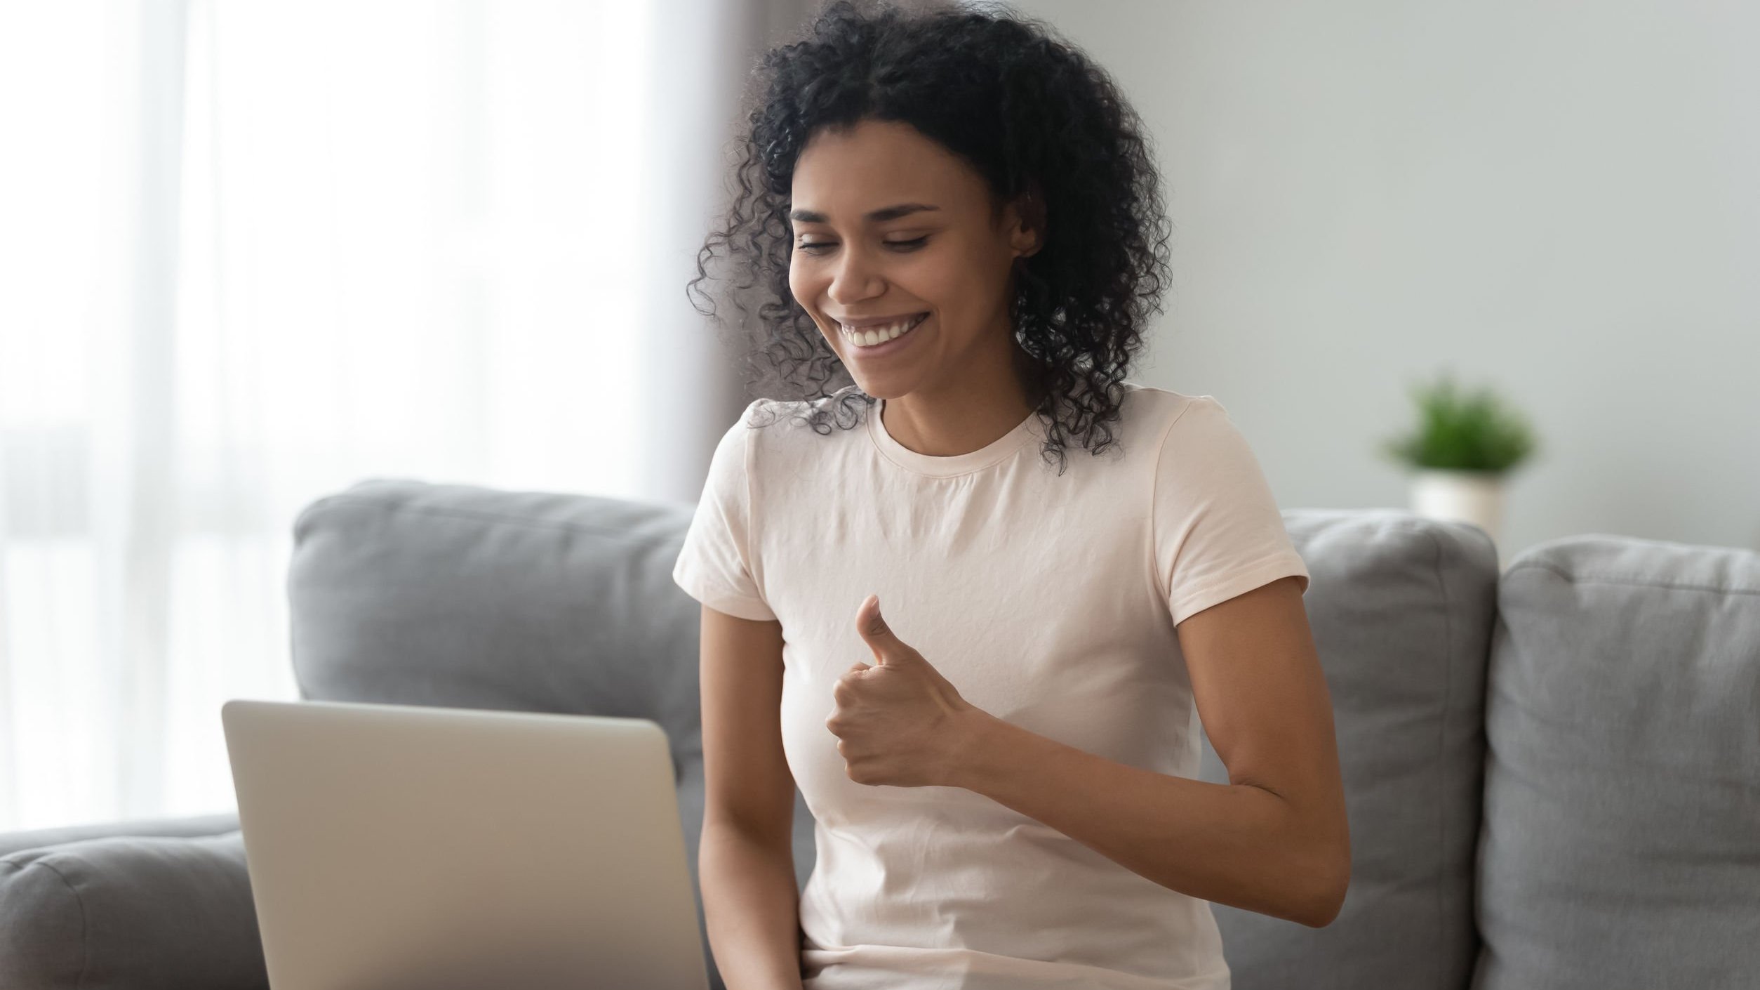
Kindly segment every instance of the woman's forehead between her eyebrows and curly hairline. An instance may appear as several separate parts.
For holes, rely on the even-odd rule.
[[[894,203],[933,203],[942,213],[980,204],[984,180],[957,155],[899,122],[864,120],[820,130],[794,166],[792,204],[831,224],[859,224]]]

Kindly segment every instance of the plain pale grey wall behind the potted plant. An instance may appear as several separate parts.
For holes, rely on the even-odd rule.
[[[1544,449],[1503,553],[1760,548],[1760,5],[1026,0],[1156,141],[1176,289],[1139,380],[1209,393],[1287,507],[1406,506],[1450,365]]]

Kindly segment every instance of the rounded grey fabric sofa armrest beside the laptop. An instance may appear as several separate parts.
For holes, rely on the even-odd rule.
[[[239,831],[0,856],[0,986],[268,988]]]

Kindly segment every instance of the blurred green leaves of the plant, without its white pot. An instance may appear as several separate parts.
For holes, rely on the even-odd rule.
[[[1503,474],[1535,451],[1533,430],[1489,388],[1464,393],[1450,372],[1433,384],[1413,384],[1419,428],[1389,437],[1382,451],[1410,469],[1482,470]]]

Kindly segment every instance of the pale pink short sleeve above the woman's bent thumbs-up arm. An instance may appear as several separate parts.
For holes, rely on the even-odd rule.
[[[1246,437],[1204,395],[1177,414],[1155,469],[1155,564],[1174,625],[1290,574],[1308,594],[1271,484]]]

